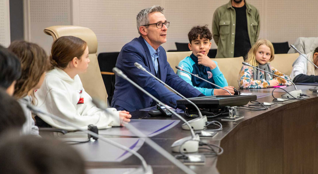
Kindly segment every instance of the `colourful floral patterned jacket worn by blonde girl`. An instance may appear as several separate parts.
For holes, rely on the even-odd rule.
[[[286,78],[290,80],[289,76],[279,72],[271,65],[269,65],[273,74],[278,75],[280,77]],[[239,72],[239,87],[246,89],[246,88],[268,88],[269,81],[265,80],[264,71],[259,71],[261,80],[254,80],[253,79],[253,68],[250,66],[243,65],[240,72]],[[266,73],[267,74],[267,73]],[[269,75],[269,74],[267,74]],[[279,77],[274,77],[273,79],[278,80],[279,85],[287,85],[290,86],[291,83],[287,80],[284,80]]]

